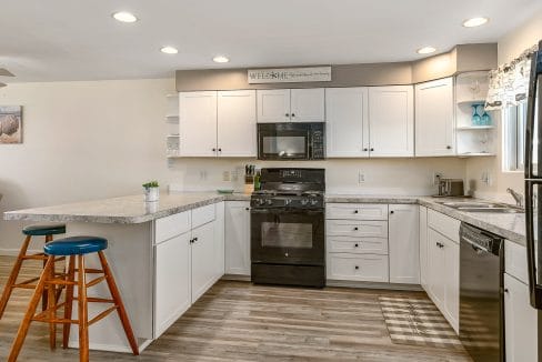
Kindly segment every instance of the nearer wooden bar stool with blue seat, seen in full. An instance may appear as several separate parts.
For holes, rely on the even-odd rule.
[[[27,336],[28,329],[32,321],[39,321],[49,323],[49,342],[50,348],[53,350],[56,348],[56,335],[57,335],[57,323],[63,324],[62,333],[62,344],[63,348],[68,348],[68,339],[70,336],[71,324],[79,324],[79,359],[80,361],[89,360],[89,325],[103,319],[106,315],[117,310],[120,321],[124,329],[128,342],[132,349],[133,354],[139,354],[138,343],[136,336],[133,335],[128,314],[124,309],[124,304],[120,298],[119,289],[114,282],[111,269],[109,268],[108,261],[103,250],[108,248],[108,241],[103,238],[97,237],[71,237],[64,239],[58,239],[52,241],[43,248],[46,254],[48,255],[46,268],[41,273],[38,281],[36,291],[30,300],[27,313],[19,326],[17,336],[11,345],[11,351],[8,361],[17,361],[17,356],[21,351],[22,343]],[[84,268],[84,254],[97,252],[100,259],[100,269],[86,269]],[[66,278],[54,276],[54,258],[56,257],[69,257],[68,272]],[[76,269],[76,258],[77,258],[77,269]],[[76,281],[76,273],[78,274]],[[89,282],[87,282],[87,274],[103,274]],[[93,286],[102,281],[106,281],[109,291],[111,293],[111,299],[104,298],[91,298],[87,296],[87,288]],[[58,303],[54,298],[51,298],[54,293],[56,285],[66,285],[66,302]],[[73,296],[73,289],[78,288],[78,296]],[[48,291],[48,308],[46,311],[36,314],[36,309],[40,300],[41,293]],[[78,320],[72,320],[72,304],[73,301],[78,301]],[[92,320],[88,320],[88,303],[111,303],[112,306],[108,308],[103,312],[99,313]],[[57,310],[63,308],[63,318],[57,316]]]

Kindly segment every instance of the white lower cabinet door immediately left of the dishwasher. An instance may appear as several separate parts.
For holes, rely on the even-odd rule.
[[[459,244],[444,238],[444,311],[448,321],[459,332]],[[442,268],[442,267],[441,267]]]

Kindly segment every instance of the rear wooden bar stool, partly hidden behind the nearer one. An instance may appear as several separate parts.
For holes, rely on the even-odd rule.
[[[8,301],[11,296],[11,292],[16,288],[22,289],[36,289],[36,282],[39,278],[32,278],[22,282],[17,282],[17,278],[19,276],[19,272],[22,268],[22,262],[26,260],[42,260],[43,267],[46,265],[47,255],[44,253],[37,253],[37,254],[27,254],[28,247],[32,237],[46,237],[46,244],[52,241],[52,235],[57,234],[64,234],[66,233],[66,224],[58,223],[58,224],[37,224],[37,225],[29,225],[22,229],[22,233],[27,235],[22,243],[21,250],[19,251],[19,255],[17,257],[17,261],[11,270],[11,273],[8,278],[8,282],[6,283],[6,288],[3,289],[2,296],[0,298],[0,319],[6,311],[6,306],[8,305]],[[63,258],[62,258],[63,259]],[[59,261],[61,259],[57,259]],[[62,289],[59,289],[58,292],[60,293]],[[59,294],[57,294],[57,298]],[[42,300],[42,309],[47,308],[47,293],[43,294]]]

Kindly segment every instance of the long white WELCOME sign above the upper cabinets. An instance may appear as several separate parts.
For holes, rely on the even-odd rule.
[[[249,84],[330,82],[331,67],[249,69]]]

